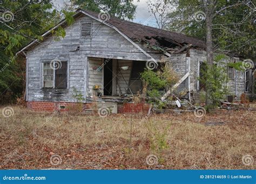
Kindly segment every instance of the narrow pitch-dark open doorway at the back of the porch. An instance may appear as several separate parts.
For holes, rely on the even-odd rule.
[[[113,61],[112,59],[104,59],[104,63],[104,96],[111,96],[113,83]]]

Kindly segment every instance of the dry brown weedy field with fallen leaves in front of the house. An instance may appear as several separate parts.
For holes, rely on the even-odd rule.
[[[100,118],[11,108],[0,115],[1,169],[255,169],[250,109]]]

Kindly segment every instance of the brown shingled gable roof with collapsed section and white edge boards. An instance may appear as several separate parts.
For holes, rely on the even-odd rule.
[[[165,48],[172,48],[175,46],[182,47],[188,44],[190,44],[191,47],[198,47],[203,49],[206,48],[205,42],[197,38],[188,37],[181,33],[161,30],[155,27],[150,27],[142,24],[129,22],[127,20],[121,20],[115,17],[109,17],[108,20],[104,20],[104,19],[101,19],[102,18],[101,16],[98,16],[99,13],[89,11],[89,10],[78,9],[75,15],[73,15],[73,17],[78,17],[82,13],[85,15],[90,15],[94,19],[99,20],[106,25],[110,25],[111,27],[116,29],[118,32],[122,32],[128,39],[131,39],[132,41],[145,41],[150,45],[158,45]],[[42,37],[48,36],[49,34],[51,34],[51,30],[55,30],[57,29],[57,27],[64,24],[66,24],[65,19],[62,20],[59,24],[57,24],[55,27],[53,27],[49,31],[42,34]],[[27,48],[31,47],[36,43],[38,43],[37,39],[31,41],[28,45],[23,47],[16,54],[19,54],[25,51]],[[143,52],[145,53],[145,51]],[[148,55],[147,53],[145,54]]]

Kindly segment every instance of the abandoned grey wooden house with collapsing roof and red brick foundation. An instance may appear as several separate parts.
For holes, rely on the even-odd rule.
[[[197,38],[156,29],[117,18],[100,19],[98,13],[77,10],[75,23],[62,20],[65,38],[56,41],[51,30],[44,40],[32,41],[17,54],[26,57],[26,101],[33,110],[55,111],[77,102],[73,88],[83,95],[84,108],[97,96],[98,105],[112,105],[113,112],[138,112],[131,95],[142,89],[139,73],[146,62],[169,63],[182,79],[178,90],[186,89],[189,100],[200,101],[200,66],[206,60],[206,45]],[[163,49],[164,48],[164,49]],[[238,58],[223,60],[235,62]],[[231,94],[253,93],[253,70],[227,67]],[[124,103],[125,102],[125,103]],[[136,107],[135,107],[136,106]]]

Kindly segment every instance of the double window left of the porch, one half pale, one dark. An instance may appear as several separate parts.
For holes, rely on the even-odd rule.
[[[43,63],[43,88],[65,89],[68,86],[68,62],[60,61],[60,64],[56,63],[59,61],[53,62],[55,63]]]

